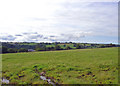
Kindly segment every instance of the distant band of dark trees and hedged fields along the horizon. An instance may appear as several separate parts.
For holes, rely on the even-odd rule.
[[[120,45],[72,43],[72,42],[66,42],[66,43],[2,42],[2,53],[28,52],[30,49],[34,51],[54,51],[54,50],[89,49],[89,48],[105,48],[105,47],[118,47],[118,46]]]

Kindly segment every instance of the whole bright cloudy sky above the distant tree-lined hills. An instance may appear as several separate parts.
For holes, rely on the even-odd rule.
[[[118,1],[1,0],[0,41],[118,43]]]

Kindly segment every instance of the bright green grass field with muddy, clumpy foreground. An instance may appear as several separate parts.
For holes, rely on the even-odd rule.
[[[3,77],[10,84],[117,84],[118,48],[9,53],[2,55]]]

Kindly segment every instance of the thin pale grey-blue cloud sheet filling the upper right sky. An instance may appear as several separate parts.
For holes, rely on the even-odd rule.
[[[117,32],[117,3],[62,3],[62,9],[56,11],[57,27],[93,31],[93,35],[113,36]],[[97,31],[99,30],[99,32]]]

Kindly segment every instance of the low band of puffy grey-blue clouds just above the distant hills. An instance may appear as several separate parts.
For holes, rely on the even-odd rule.
[[[43,35],[36,32],[24,32],[17,35],[3,34],[1,36],[2,41],[19,41],[19,42],[40,42],[40,41],[77,41],[85,36],[88,36],[91,32],[69,32],[61,33],[58,35]]]

